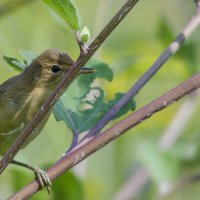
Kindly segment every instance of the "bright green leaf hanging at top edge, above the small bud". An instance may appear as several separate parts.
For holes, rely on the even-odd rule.
[[[73,0],[42,0],[50,6],[69,26],[77,31],[80,29],[78,10]]]

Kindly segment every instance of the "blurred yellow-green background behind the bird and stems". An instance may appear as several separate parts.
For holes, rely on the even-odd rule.
[[[3,7],[7,2],[12,7],[10,12]],[[48,48],[67,51],[73,59],[79,54],[70,29],[52,10],[39,0],[20,2],[0,2],[0,83],[18,73],[5,63],[4,55],[21,59],[19,50],[40,53]],[[82,25],[90,29],[92,38],[124,2],[76,0]],[[114,73],[112,82],[98,82],[106,98],[126,92],[193,13],[192,0],[139,1],[94,56],[106,62]],[[136,96],[137,109],[198,72],[198,31]],[[65,173],[53,183],[50,195],[43,190],[30,199],[199,199],[199,182],[184,185],[183,181],[200,172],[198,93],[157,113]],[[108,126],[113,123],[116,120]],[[66,125],[52,115],[42,134],[21,150],[16,160],[45,169],[66,151],[71,137]],[[0,176],[0,200],[33,178],[31,172],[9,166]]]

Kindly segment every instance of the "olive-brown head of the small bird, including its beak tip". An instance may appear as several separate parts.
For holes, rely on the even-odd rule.
[[[35,58],[24,72],[26,76],[31,76],[29,81],[54,89],[73,64],[74,61],[66,53],[48,49]],[[90,68],[82,68],[79,74],[88,74],[94,71]]]

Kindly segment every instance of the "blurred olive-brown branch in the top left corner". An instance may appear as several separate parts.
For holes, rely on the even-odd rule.
[[[0,17],[5,16],[20,6],[24,6],[31,2],[33,2],[33,0],[8,0],[0,5]]]

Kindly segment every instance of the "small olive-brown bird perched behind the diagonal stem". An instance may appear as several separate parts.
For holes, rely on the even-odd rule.
[[[73,64],[74,61],[66,53],[49,49],[35,58],[21,74],[0,85],[1,155],[6,152],[31,121]],[[80,70],[80,74],[93,72],[94,70],[90,68]],[[32,138],[25,146],[41,132],[50,114],[51,111],[34,130]],[[50,180],[42,170],[14,160],[12,163],[34,170],[39,176],[38,179],[42,187],[50,184]]]

